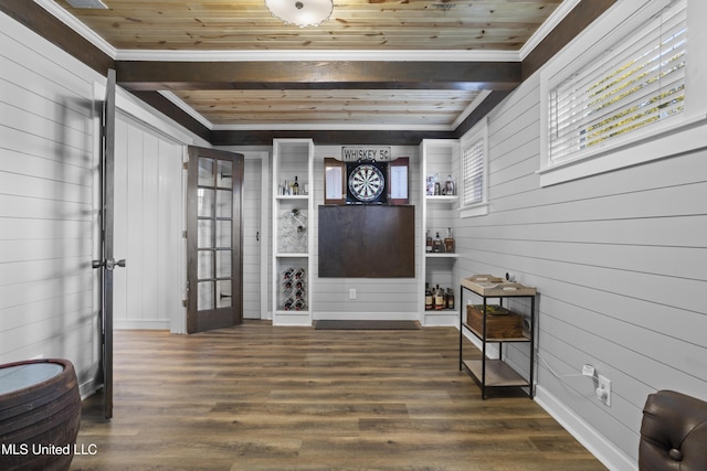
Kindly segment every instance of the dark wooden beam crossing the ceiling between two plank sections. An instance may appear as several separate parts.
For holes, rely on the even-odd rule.
[[[510,90],[518,62],[151,62],[117,61],[130,90],[204,89],[462,89]]]

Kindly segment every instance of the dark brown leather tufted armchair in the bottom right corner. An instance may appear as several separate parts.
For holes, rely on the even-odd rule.
[[[707,402],[674,390],[651,394],[643,409],[641,471],[707,471]]]

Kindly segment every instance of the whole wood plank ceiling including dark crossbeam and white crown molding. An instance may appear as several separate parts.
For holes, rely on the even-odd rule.
[[[335,0],[327,21],[298,28],[264,0],[35,1],[103,41],[123,87],[215,143],[458,135],[518,85],[519,51],[562,3]]]

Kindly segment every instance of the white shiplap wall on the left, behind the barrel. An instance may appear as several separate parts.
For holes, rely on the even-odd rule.
[[[0,363],[98,370],[94,81],[0,13]]]

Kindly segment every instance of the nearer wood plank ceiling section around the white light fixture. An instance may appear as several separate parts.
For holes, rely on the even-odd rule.
[[[56,2],[119,50],[517,51],[561,0],[336,0],[315,28],[283,24],[265,0]]]

